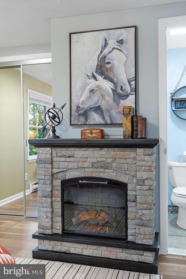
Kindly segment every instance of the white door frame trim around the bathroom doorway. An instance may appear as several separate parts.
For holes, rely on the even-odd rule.
[[[183,26],[186,16],[159,19],[160,253],[168,252],[167,28]],[[174,89],[174,88],[173,88]],[[178,161],[175,160],[175,161]],[[169,252],[168,252],[169,253]],[[173,252],[171,252],[173,253]]]

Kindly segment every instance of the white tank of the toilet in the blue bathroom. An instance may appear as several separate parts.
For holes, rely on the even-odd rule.
[[[173,187],[186,187],[186,163],[168,161],[168,172]]]

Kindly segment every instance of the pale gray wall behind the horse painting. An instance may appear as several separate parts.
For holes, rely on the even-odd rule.
[[[61,138],[80,138],[85,126],[69,126],[69,33],[137,25],[137,114],[148,119],[148,137],[158,137],[158,19],[185,15],[186,2],[51,20],[53,101],[65,102]],[[121,136],[121,126],[101,126]],[[119,132],[117,132],[119,131]],[[157,148],[158,150],[158,148]],[[156,158],[156,231],[159,231],[159,156]]]

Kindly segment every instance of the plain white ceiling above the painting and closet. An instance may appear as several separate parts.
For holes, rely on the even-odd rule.
[[[50,43],[51,18],[182,1],[185,0],[0,0],[0,48]]]

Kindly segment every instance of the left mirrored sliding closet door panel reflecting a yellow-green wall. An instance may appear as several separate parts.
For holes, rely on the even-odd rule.
[[[20,67],[0,69],[0,213],[24,214]]]

